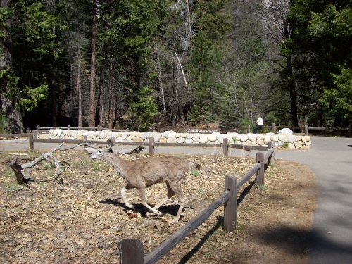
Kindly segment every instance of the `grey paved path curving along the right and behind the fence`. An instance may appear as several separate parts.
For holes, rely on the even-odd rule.
[[[316,175],[318,201],[313,215],[311,264],[352,263],[352,139],[312,137],[309,150],[275,151],[275,158],[308,165]],[[58,144],[35,144],[49,150]],[[115,146],[122,149],[122,146]],[[127,146],[131,148],[131,146]],[[0,151],[28,149],[27,142],[0,143]],[[257,151],[232,150],[232,156],[254,156]],[[219,154],[215,148],[156,148],[156,153]]]

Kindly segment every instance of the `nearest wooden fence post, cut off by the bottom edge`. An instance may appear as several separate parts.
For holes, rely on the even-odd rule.
[[[118,244],[120,264],[143,264],[143,243],[138,239],[122,239]]]

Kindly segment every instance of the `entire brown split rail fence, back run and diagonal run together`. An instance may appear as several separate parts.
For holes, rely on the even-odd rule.
[[[45,132],[44,132],[45,133]],[[42,134],[39,130],[25,134],[29,137],[30,149],[34,149],[34,142],[43,143],[96,143],[103,144],[102,141],[88,141],[87,137],[84,140],[73,140],[73,139],[38,139],[38,134]],[[2,136],[2,135],[0,135]],[[224,139],[222,144],[171,144],[171,143],[156,143],[153,137],[149,138],[149,142],[115,142],[115,144],[122,145],[139,145],[149,146],[149,153],[154,153],[156,146],[196,146],[196,147],[222,147],[224,156],[228,156],[229,148],[237,148],[244,150],[262,150],[263,152],[256,153],[256,163],[246,172],[246,174],[237,181],[236,175],[225,176],[225,191],[218,199],[215,199],[210,205],[201,211],[195,218],[187,222],[186,225],[180,228],[177,232],[172,234],[166,239],[160,246],[153,251],[144,255],[143,243],[138,239],[122,239],[119,243],[120,250],[120,264],[150,264],[156,263],[165,256],[171,249],[182,241],[190,232],[196,230],[199,225],[205,222],[210,215],[219,207],[224,206],[224,219],[222,227],[227,232],[232,232],[236,227],[237,222],[237,190],[243,186],[246,182],[251,180],[253,175],[256,175],[256,184],[265,184],[265,163],[270,165],[274,163],[275,142],[269,142],[268,147],[266,146],[247,146],[241,144],[229,144],[228,139]]]

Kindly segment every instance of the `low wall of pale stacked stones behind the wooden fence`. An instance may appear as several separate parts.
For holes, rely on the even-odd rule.
[[[157,132],[111,132],[110,130],[87,131],[87,130],[49,130],[49,134],[41,134],[39,139],[78,139],[84,140],[101,140],[106,141],[110,137],[115,137],[116,142],[148,142],[149,137],[154,137],[155,142],[160,143],[206,143],[217,144],[222,143],[224,138],[229,139],[229,143],[268,146],[268,142],[274,141],[275,147],[286,146],[289,149],[309,149],[311,141],[309,136],[296,136],[293,134],[238,134],[227,133],[220,134],[213,132],[212,134],[201,133],[176,133],[166,131]]]

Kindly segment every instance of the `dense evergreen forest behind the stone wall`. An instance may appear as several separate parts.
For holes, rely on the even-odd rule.
[[[0,132],[348,127],[350,0],[1,0]]]

